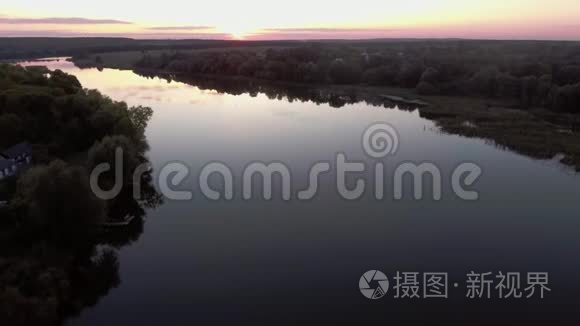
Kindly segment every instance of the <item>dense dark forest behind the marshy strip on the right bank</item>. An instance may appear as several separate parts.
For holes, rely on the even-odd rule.
[[[97,56],[96,65],[107,65]],[[425,40],[314,42],[212,51],[144,51],[134,67],[316,85],[414,89],[482,97],[521,109],[580,113],[580,43]]]

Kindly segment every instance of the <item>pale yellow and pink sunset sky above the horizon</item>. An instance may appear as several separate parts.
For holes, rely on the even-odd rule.
[[[18,0],[0,37],[580,40],[579,0]]]

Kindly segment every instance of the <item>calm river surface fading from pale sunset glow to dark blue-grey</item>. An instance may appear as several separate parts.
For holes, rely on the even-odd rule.
[[[308,202],[240,196],[211,202],[199,191],[189,202],[168,200],[149,212],[140,240],[120,250],[121,285],[69,325],[311,320],[329,312],[337,320],[389,320],[389,314],[418,307],[454,311],[463,304],[465,274],[472,270],[550,272],[550,302],[580,307],[580,178],[555,162],[442,134],[416,111],[364,103],[336,109],[219,94],[130,71],[80,70],[64,61],[47,65],[115,100],[152,107],[150,159],[157,169],[174,161],[188,165],[191,175],[180,189],[197,191],[200,168],[213,161],[234,171],[237,194],[243,168],[254,161],[286,163],[297,188],[307,185],[313,163],[333,160],[337,152],[374,164],[364,155],[361,137],[377,121],[400,134],[399,152],[385,161],[387,176],[398,163],[430,161],[444,177],[438,202],[376,201],[371,193],[345,201],[334,190],[332,174],[321,177],[319,196]],[[466,161],[483,169],[476,202],[460,201],[449,186],[454,167]],[[388,275],[449,272],[450,282],[460,286],[450,292],[456,300],[444,304],[375,304],[358,290],[369,269]]]

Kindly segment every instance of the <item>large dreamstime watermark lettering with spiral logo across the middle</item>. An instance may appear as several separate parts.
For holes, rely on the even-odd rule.
[[[308,175],[295,176],[291,167],[283,162],[273,161],[250,162],[241,173],[234,173],[227,164],[222,162],[209,162],[201,169],[197,175],[198,188],[203,196],[209,200],[233,200],[238,197],[243,200],[260,198],[255,193],[255,181],[261,180],[261,198],[272,200],[274,190],[279,190],[281,198],[285,201],[292,199],[311,200],[319,192],[320,179],[323,175],[334,172],[336,177],[336,189],[339,196],[346,200],[358,200],[365,192],[369,191],[368,185],[374,185],[372,191],[374,198],[383,200],[389,185],[392,186],[391,193],[394,200],[404,198],[405,178],[411,178],[411,192],[414,200],[426,199],[426,194],[430,194],[432,200],[441,200],[443,189],[443,177],[439,167],[432,162],[405,162],[392,168],[392,175],[387,176],[386,162],[389,157],[397,154],[401,146],[401,139],[396,128],[388,123],[376,123],[368,127],[362,134],[362,148],[364,153],[371,159],[368,161],[351,161],[347,154],[339,152],[333,160],[319,161],[311,166]],[[115,157],[115,185],[112,189],[102,189],[99,185],[99,178],[103,173],[111,171],[109,163],[99,164],[94,168],[90,175],[90,185],[93,192],[101,199],[110,200],[117,196],[123,187],[123,150],[118,148]],[[138,188],[140,176],[147,167],[139,167],[134,171],[133,185]],[[361,175],[370,172],[374,180],[365,180]],[[303,173],[303,172],[301,172]],[[157,175],[158,190],[169,200],[183,201],[194,198],[193,191],[178,190],[186,181],[188,176],[192,175],[189,167],[181,162],[171,162],[162,166]],[[234,175],[241,176],[241,194],[236,196],[234,193]],[[347,183],[349,177],[356,177],[354,186]],[[475,163],[462,162],[451,173],[451,178],[446,183],[450,185],[449,191],[455,196],[466,201],[475,201],[479,199],[479,193],[473,190],[473,186],[482,175],[482,169]],[[223,185],[216,189],[210,185],[210,178],[219,176],[223,180]],[[281,180],[278,189],[275,189],[274,178]],[[308,181],[305,189],[294,189],[292,180],[294,177],[300,177]],[[430,180],[430,188],[426,189],[425,179]],[[391,180],[390,184],[387,180]],[[407,183],[408,185],[409,183]],[[408,192],[408,190],[407,190]],[[139,191],[134,191],[135,196],[139,196]],[[139,199],[139,198],[136,198]]]

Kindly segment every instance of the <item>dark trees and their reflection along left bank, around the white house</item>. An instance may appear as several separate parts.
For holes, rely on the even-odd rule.
[[[145,209],[161,204],[143,175],[141,199],[123,180],[121,195],[98,199],[89,171],[114,164],[147,163],[144,130],[150,108],[128,107],[83,89],[72,75],[45,67],[0,64],[0,148],[27,142],[32,166],[0,180],[0,320],[8,325],[58,325],[117,287],[117,249],[143,232]],[[125,174],[131,175],[131,174]],[[102,175],[103,189],[114,176]],[[103,223],[122,222],[104,229]]]

